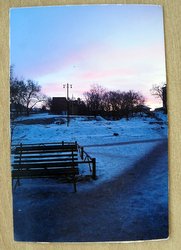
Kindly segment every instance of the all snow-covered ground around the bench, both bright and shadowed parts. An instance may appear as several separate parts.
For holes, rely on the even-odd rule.
[[[84,146],[91,157],[96,158],[98,178],[96,181],[87,179],[78,182],[77,194],[72,193],[70,184],[61,184],[56,180],[23,180],[22,185],[14,191],[13,195],[15,239],[69,242],[167,237],[167,117],[160,112],[157,113],[157,117],[159,119],[134,117],[128,121],[126,119],[107,121],[102,117],[94,119],[72,116],[69,127],[66,125],[66,118],[62,116],[37,114],[19,118],[19,123],[13,132],[13,144],[77,141]],[[87,165],[81,165],[80,172],[82,175],[90,174]],[[129,185],[127,186],[126,183]],[[73,218],[73,222],[78,223],[80,228],[78,231],[72,229],[73,224],[68,220],[70,214],[66,217],[67,208],[60,199],[64,204],[69,202],[70,207],[75,207],[71,218],[80,212],[79,217],[75,217],[77,220]],[[55,212],[57,202],[61,210],[58,209]],[[38,220],[35,221],[37,208],[46,210],[50,204],[51,208],[48,211],[54,225],[50,225],[50,218],[46,217],[42,222],[44,226],[40,228],[37,224]],[[161,211],[156,213],[158,207]],[[104,213],[108,208],[111,211],[107,212],[111,212],[112,216],[108,214],[106,217]],[[86,209],[88,210],[87,221],[86,211],[84,211]],[[95,212],[99,209],[101,209],[99,217],[96,216],[92,226],[89,225],[89,219],[95,217]],[[59,218],[59,222],[52,219],[54,213],[56,218]],[[122,219],[119,219],[120,216]],[[26,222],[27,233],[21,230],[20,217],[23,217]],[[147,218],[148,224],[151,223],[148,226],[150,231],[147,228],[145,233],[144,220],[142,222],[138,219],[143,217]],[[161,224],[158,219],[157,222],[153,221],[153,218],[157,217],[163,217]],[[28,222],[27,218],[31,220]],[[118,221],[115,222],[115,220]],[[140,220],[139,226],[135,222],[133,227],[132,223],[135,220]],[[101,231],[99,236],[92,232],[96,229],[94,225],[96,223],[107,228],[113,222],[118,228],[121,227],[120,232],[118,228],[114,228],[115,226],[112,226],[111,232],[108,230],[109,235],[104,232],[104,237]],[[31,225],[32,223],[34,224]],[[83,233],[84,224],[89,228],[87,234]],[[41,231],[39,237],[32,231],[31,226],[35,232]],[[49,233],[46,231],[47,226],[49,228],[51,226]],[[23,230],[25,230],[24,226]]]

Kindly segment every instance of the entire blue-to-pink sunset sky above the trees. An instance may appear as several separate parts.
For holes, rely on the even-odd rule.
[[[48,96],[83,98],[93,84],[135,90],[152,108],[153,84],[166,81],[162,8],[82,5],[16,8],[10,12],[10,61]]]

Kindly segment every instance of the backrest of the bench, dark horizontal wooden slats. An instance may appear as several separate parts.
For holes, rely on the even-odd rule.
[[[74,145],[20,145],[14,151],[14,169],[73,167],[78,164]]]

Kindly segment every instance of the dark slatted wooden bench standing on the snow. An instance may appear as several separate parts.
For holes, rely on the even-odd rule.
[[[63,178],[76,188],[78,169],[77,143],[20,144],[14,150],[12,180],[22,178]]]

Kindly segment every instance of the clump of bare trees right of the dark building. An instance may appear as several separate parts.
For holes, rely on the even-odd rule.
[[[144,105],[145,98],[139,92],[107,91],[100,85],[94,85],[84,93],[89,114],[112,116],[114,118],[132,116]]]

